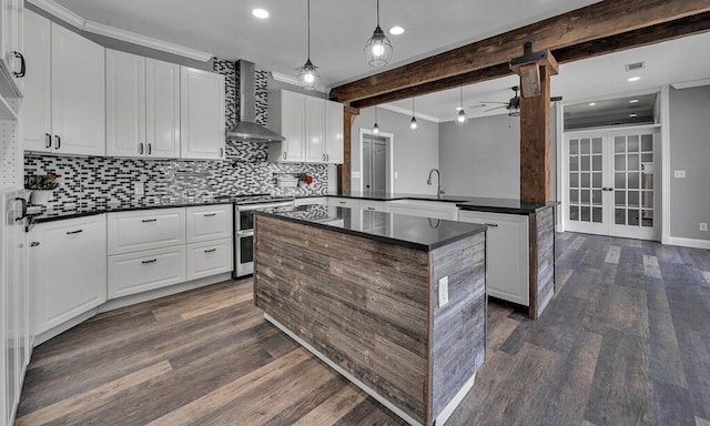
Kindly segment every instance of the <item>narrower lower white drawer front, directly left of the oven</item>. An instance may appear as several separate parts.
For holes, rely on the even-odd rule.
[[[232,239],[187,244],[187,281],[232,272]]]

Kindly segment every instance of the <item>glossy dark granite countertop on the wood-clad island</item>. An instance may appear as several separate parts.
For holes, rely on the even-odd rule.
[[[425,252],[486,231],[486,225],[473,223],[372,211],[357,213],[362,214],[361,220],[353,220],[356,212],[347,207],[303,205],[293,209],[266,209],[256,214]]]

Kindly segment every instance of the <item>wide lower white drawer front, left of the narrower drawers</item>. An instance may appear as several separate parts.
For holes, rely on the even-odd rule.
[[[185,246],[109,256],[109,298],[185,281]]]

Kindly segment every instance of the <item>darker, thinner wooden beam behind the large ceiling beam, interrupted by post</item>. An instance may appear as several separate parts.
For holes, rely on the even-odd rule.
[[[552,51],[552,54],[557,59],[557,62],[568,63],[708,31],[710,31],[710,12],[704,12],[635,31],[628,31],[617,36],[595,39],[567,48],[556,49]],[[355,108],[368,108],[412,97],[435,93],[442,90],[454,89],[462,85],[475,84],[481,81],[495,80],[511,74],[513,71],[510,71],[508,67],[508,61],[505,61],[480,70],[469,71],[463,74],[434,80],[427,83],[353,101],[351,102],[351,105]]]

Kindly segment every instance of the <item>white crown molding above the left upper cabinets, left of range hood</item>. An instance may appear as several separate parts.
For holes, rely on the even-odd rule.
[[[82,31],[109,37],[112,39],[125,41],[128,43],[139,44],[145,48],[160,50],[162,52],[172,53],[202,62],[206,62],[213,57],[212,53],[185,48],[184,45],[170,43],[163,40],[154,39],[152,37],[136,34],[134,32],[121,30],[115,27],[104,26],[103,23],[89,21],[53,0],[28,0],[28,2]]]

